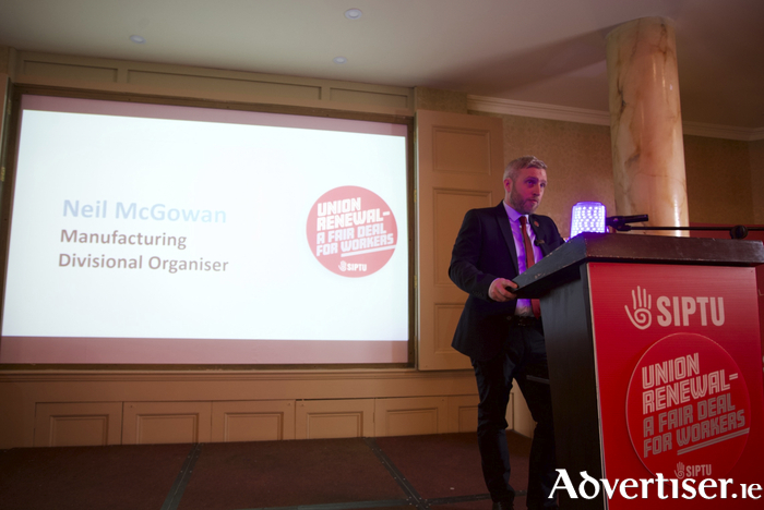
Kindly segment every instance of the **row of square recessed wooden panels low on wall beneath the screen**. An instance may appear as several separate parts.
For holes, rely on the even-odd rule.
[[[32,416],[33,444],[9,447],[234,442],[465,433],[477,428],[478,401],[477,394],[452,394],[212,402],[37,402]],[[513,411],[510,406],[508,423],[512,422]]]

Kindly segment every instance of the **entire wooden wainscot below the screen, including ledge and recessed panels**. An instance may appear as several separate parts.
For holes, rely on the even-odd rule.
[[[176,428],[178,441],[326,437],[335,418],[342,428],[337,434],[355,430],[373,437],[380,433],[374,402],[417,408],[425,399],[458,409],[464,402],[474,405],[476,393],[471,371],[5,371],[0,372],[0,416],[12,418],[0,421],[0,449],[172,442]],[[324,416],[323,424],[312,424],[312,432],[309,412]],[[106,427],[107,415],[105,436],[93,424],[100,420]],[[71,426],[51,435],[50,416]],[[238,422],[231,424],[227,416]],[[82,430],[74,429],[75,422]],[[433,432],[449,432],[447,412],[437,423]],[[395,430],[401,434],[404,425],[395,422]],[[411,427],[411,434],[421,429],[421,421],[414,420]]]

